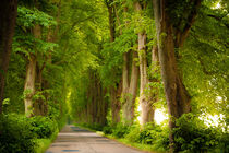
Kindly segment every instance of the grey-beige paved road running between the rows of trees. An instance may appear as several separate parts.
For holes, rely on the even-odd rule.
[[[72,125],[65,126],[46,153],[145,153]]]

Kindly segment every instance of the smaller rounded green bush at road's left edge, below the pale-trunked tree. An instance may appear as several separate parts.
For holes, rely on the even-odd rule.
[[[33,126],[32,132],[36,133],[38,139],[50,138],[58,129],[57,123],[48,117],[33,117],[29,122]]]

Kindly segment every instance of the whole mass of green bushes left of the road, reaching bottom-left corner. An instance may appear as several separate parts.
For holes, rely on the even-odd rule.
[[[58,127],[49,118],[8,114],[1,116],[0,131],[0,152],[33,153],[38,148],[37,139],[57,134]]]

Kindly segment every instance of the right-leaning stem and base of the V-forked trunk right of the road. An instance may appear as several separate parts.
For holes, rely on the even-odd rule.
[[[136,66],[135,58],[137,58],[137,52],[132,52],[132,68],[131,68],[131,81],[130,81],[130,87],[128,89],[126,93],[126,101],[123,102],[122,106],[122,113],[123,113],[123,120],[124,123],[131,125],[133,122],[134,118],[134,103],[136,98],[137,93],[137,83],[138,83],[138,75],[140,70]]]

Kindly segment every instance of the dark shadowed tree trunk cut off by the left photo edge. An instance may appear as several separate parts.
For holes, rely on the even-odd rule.
[[[4,80],[10,62],[12,39],[17,14],[17,0],[2,0],[0,4],[0,114],[4,93]]]

